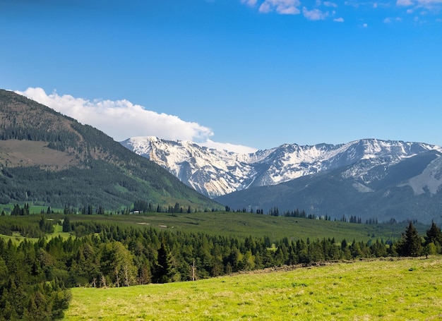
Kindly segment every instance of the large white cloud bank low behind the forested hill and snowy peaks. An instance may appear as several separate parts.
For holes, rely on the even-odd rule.
[[[40,102],[47,107],[70,116],[80,123],[100,129],[114,140],[121,141],[136,136],[157,136],[167,140],[191,140],[208,142],[219,146],[222,150],[244,150],[251,147],[215,143],[209,138],[213,131],[191,121],[183,121],[178,116],[150,111],[144,107],[123,100],[88,100],[71,95],[58,95],[56,92],[47,95],[42,88],[28,88],[16,93]],[[256,149],[254,149],[256,150]]]

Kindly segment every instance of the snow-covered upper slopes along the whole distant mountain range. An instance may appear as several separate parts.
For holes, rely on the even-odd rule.
[[[346,168],[340,174],[342,178],[353,178],[355,188],[371,190],[370,184],[381,181],[389,174],[388,168],[405,159],[429,151],[442,153],[442,147],[436,145],[376,139],[341,145],[285,144],[251,154],[213,150],[189,141],[155,137],[129,138],[121,144],[165,167],[210,198],[341,168]],[[418,174],[420,178],[415,178],[410,186],[422,190],[425,186],[423,177],[430,177],[431,170]],[[437,190],[442,181],[434,178],[431,184],[431,190]]]

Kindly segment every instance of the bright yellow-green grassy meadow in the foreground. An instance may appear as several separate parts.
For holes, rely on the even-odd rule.
[[[441,320],[442,258],[71,291],[64,320]]]

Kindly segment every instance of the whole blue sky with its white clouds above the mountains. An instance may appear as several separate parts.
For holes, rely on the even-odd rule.
[[[116,140],[442,145],[442,0],[3,0],[0,41],[1,88]]]

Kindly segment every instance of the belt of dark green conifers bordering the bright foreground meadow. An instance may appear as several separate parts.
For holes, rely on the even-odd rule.
[[[311,265],[333,260],[441,253],[442,233],[432,224],[424,238],[412,222],[395,243],[236,238],[71,222],[71,215],[0,217],[0,233],[40,235],[15,243],[0,238],[0,320],[54,320],[63,316],[73,286],[133,286],[205,279],[239,271]],[[68,238],[44,236],[59,224]]]

